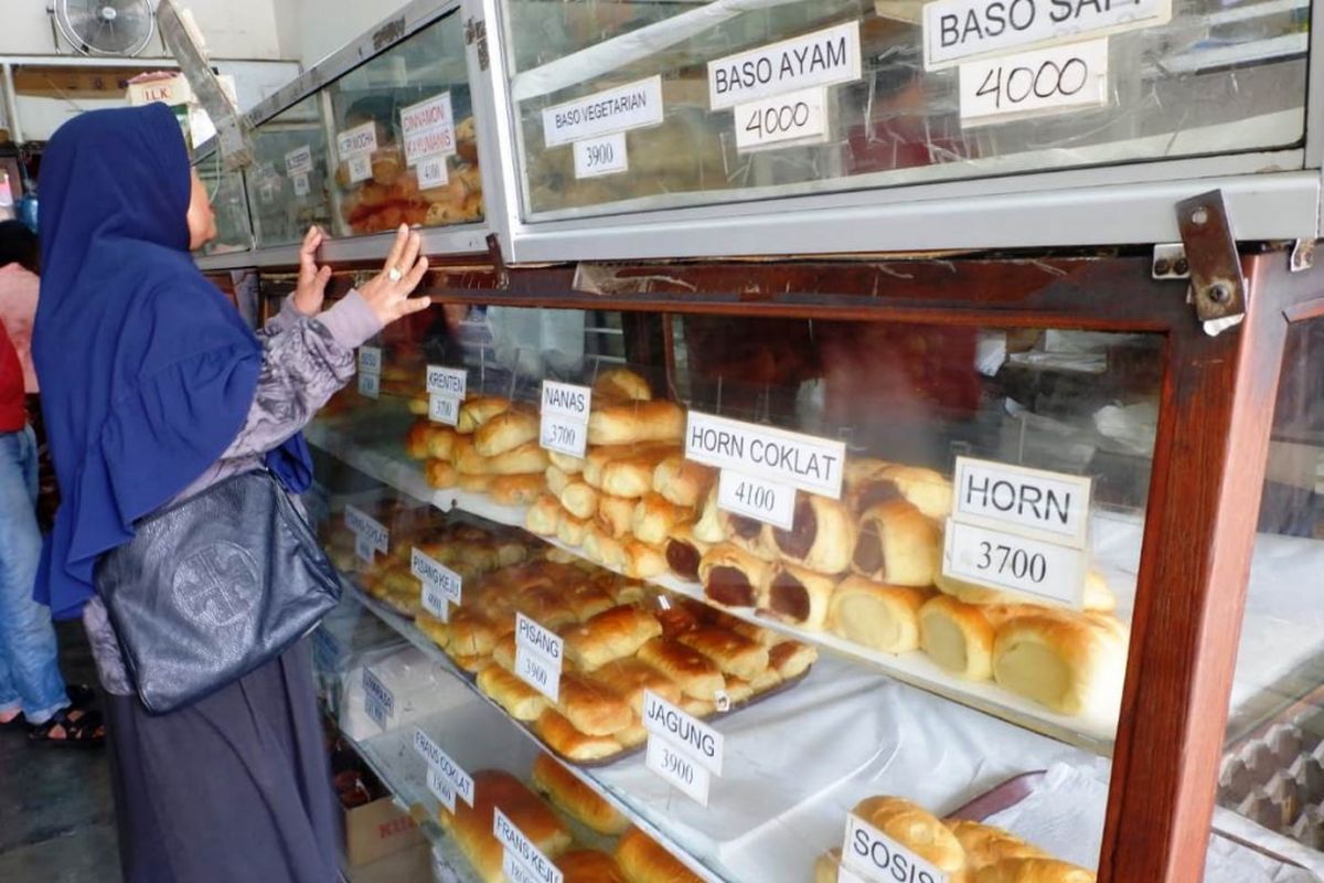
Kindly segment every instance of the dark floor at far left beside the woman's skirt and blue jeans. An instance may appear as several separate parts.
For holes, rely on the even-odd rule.
[[[58,631],[65,676],[95,683],[82,624]],[[40,749],[0,733],[0,880],[118,883],[105,749]]]

